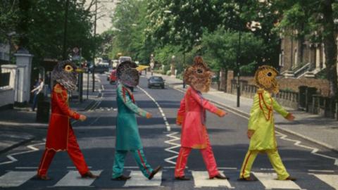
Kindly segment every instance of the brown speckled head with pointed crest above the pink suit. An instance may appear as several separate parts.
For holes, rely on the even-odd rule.
[[[197,91],[209,91],[211,72],[201,56],[196,56],[194,58],[194,63],[185,70],[184,82]]]

